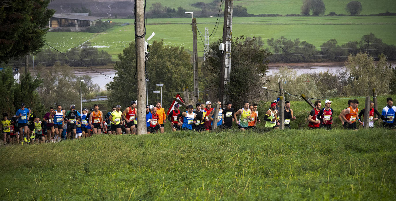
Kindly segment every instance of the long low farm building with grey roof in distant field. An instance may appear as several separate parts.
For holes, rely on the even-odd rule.
[[[88,16],[88,13],[59,13],[54,14],[48,22],[48,27],[89,27],[96,25],[103,17]]]

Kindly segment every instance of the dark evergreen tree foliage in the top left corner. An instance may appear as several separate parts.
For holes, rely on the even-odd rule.
[[[46,26],[55,13],[51,0],[13,0],[0,8],[0,61],[36,54],[44,46]]]

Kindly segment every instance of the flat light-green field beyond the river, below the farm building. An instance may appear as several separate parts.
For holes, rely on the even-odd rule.
[[[82,44],[89,39],[94,46],[116,55],[134,41],[134,27],[132,19],[112,19],[114,22],[129,22],[131,25],[114,26],[105,33],[57,33],[51,32],[46,36],[48,44],[55,44],[56,48],[65,51]],[[212,33],[216,18],[198,18],[198,29],[204,34],[205,27]],[[210,41],[215,41],[222,35],[223,19]],[[189,18],[148,19],[147,37],[155,32],[151,40],[164,39],[165,44],[183,46],[192,50],[192,32]],[[300,38],[319,47],[323,42],[335,38],[338,42],[359,41],[369,33],[375,34],[383,42],[396,44],[396,16],[373,17],[239,17],[233,20],[233,36],[261,36],[267,38],[288,39]],[[202,37],[204,40],[204,37]],[[198,53],[203,55],[203,43],[198,37]]]

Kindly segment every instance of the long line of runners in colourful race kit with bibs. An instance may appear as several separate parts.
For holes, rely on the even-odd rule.
[[[219,110],[217,111],[217,119],[215,119],[216,110],[212,107],[211,101],[204,103],[196,103],[187,105],[185,110],[180,109],[179,104],[174,105],[174,109],[170,111],[166,117],[165,109],[161,102],[156,105],[146,105],[146,130],[149,133],[163,133],[165,132],[164,124],[166,120],[170,122],[171,130],[196,130],[196,131],[210,131],[213,122],[218,128],[230,129],[232,122],[236,122],[240,130],[254,129],[259,120],[259,112],[257,111],[257,104],[244,101],[243,108],[235,111],[232,108],[232,102],[228,101],[226,107],[222,109],[221,102]],[[326,100],[324,108],[320,100],[315,101],[314,109],[308,115],[308,128],[325,128],[331,129],[334,123],[334,110],[331,108],[332,101]],[[270,108],[264,115],[266,128],[279,128],[280,119],[280,99],[274,100],[270,103]],[[386,99],[386,107],[383,108],[382,113],[379,113],[371,101],[368,124],[370,128],[374,127],[374,121],[381,119],[384,128],[395,129],[395,111],[393,106],[393,99]],[[358,109],[358,100],[349,100],[348,107],[341,111],[338,118],[346,129],[357,130],[358,124],[364,125],[366,122],[362,121],[364,117],[364,109]],[[285,128],[290,128],[291,121],[296,117],[293,115],[293,110],[290,108],[289,101],[285,102],[284,108],[284,125]],[[375,115],[377,117],[375,117]],[[137,109],[136,101],[131,101],[130,106],[121,112],[121,106],[116,105],[112,107],[112,111],[103,116],[102,111],[99,110],[99,105],[93,105],[92,108],[82,109],[82,113],[75,110],[75,105],[70,105],[70,109],[66,112],[61,105],[57,105],[54,109],[49,108],[49,111],[44,115],[42,121],[37,117],[31,109],[25,108],[25,104],[21,103],[21,109],[18,109],[13,117],[9,117],[7,113],[3,113],[0,130],[3,134],[3,142],[23,144],[31,142],[59,142],[62,137],[70,138],[87,138],[92,134],[136,134],[137,125]],[[125,131],[124,131],[125,130]],[[62,133],[66,133],[62,136]]]

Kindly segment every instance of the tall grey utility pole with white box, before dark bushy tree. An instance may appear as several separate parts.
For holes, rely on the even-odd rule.
[[[233,0],[225,0],[224,2],[224,22],[223,22],[223,44],[225,49],[223,51],[223,57],[221,58],[221,82],[219,99],[226,104],[229,95],[229,83],[231,74],[231,40],[232,40],[232,5]]]

